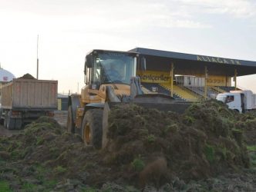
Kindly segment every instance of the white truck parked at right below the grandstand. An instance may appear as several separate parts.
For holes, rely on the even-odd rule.
[[[256,94],[253,94],[251,90],[230,91],[217,94],[216,99],[224,102],[228,108],[239,113],[256,109]]]

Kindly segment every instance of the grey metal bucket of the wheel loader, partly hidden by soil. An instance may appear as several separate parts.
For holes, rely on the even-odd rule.
[[[179,101],[166,94],[139,94],[133,98],[130,103],[137,104],[143,108],[154,108],[158,111],[173,111],[179,114],[190,106],[191,102]],[[108,118],[109,111],[116,104],[124,104],[122,102],[106,102],[103,110],[103,148],[106,147],[109,139],[107,138],[108,133]]]

